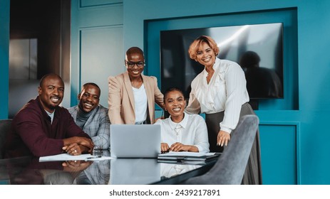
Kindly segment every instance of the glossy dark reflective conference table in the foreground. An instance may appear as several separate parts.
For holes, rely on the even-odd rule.
[[[110,156],[108,151],[102,153]],[[25,156],[0,160],[0,184],[178,184],[206,173],[216,161],[202,165],[159,163],[157,158],[39,162],[38,157]]]

